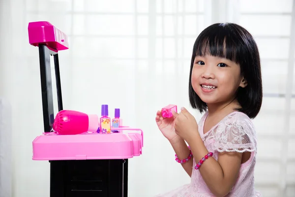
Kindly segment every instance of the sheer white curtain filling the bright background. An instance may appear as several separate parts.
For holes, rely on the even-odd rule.
[[[111,114],[121,108],[125,125],[145,132],[143,155],[129,162],[129,197],[151,197],[189,182],[156,127],[155,113],[175,103],[199,120],[187,91],[194,41],[215,22],[244,26],[259,45],[265,93],[254,120],[256,187],[264,197],[294,197],[293,0],[0,2],[0,94],[9,99],[13,117],[12,197],[49,197],[49,163],[31,160],[31,142],[43,130],[31,21],[49,21],[69,36],[70,49],[59,52],[64,109],[99,114],[100,105],[109,104]]]

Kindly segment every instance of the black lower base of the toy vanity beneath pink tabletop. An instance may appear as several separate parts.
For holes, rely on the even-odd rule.
[[[50,197],[127,197],[128,160],[50,161]]]

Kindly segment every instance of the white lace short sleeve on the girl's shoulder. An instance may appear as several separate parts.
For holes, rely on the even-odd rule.
[[[214,150],[239,153],[256,151],[255,129],[245,116],[242,113],[233,114],[214,129]]]

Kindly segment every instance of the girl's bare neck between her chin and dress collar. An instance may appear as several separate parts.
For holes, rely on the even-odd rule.
[[[208,107],[208,116],[215,116],[218,114],[228,115],[234,111],[236,108],[239,108],[239,103],[235,100],[225,103],[213,103],[207,104]]]

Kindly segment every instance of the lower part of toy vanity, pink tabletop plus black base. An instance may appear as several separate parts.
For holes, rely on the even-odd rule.
[[[128,158],[142,154],[143,131],[124,130],[133,132],[37,136],[33,160],[50,162],[50,197],[127,197]]]

